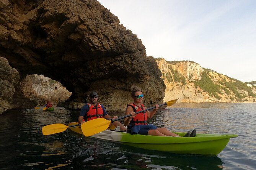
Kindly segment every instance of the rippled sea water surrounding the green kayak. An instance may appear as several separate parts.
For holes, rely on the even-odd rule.
[[[158,111],[150,122],[186,132],[238,134],[217,156],[171,154],[82,137],[70,130],[42,135],[53,123],[77,121],[79,111],[61,107],[0,115],[0,169],[255,170],[256,104],[179,104]],[[122,114],[116,114],[121,116]]]

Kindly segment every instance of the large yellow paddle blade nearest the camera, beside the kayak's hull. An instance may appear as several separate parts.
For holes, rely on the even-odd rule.
[[[99,132],[106,130],[111,123],[111,120],[106,120],[104,118],[98,118],[89,120],[81,125],[83,135],[91,136]]]

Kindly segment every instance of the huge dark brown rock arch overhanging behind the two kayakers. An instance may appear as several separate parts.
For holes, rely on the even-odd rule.
[[[22,0],[0,3],[0,53],[23,80],[38,74],[72,92],[65,107],[80,109],[97,91],[107,110],[125,110],[130,87],[161,103],[165,84],[137,35],[96,0]]]

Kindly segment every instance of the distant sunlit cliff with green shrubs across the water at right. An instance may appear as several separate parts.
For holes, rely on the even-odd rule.
[[[178,102],[256,102],[256,87],[226,75],[202,68],[192,61],[156,59],[165,82],[164,101]]]

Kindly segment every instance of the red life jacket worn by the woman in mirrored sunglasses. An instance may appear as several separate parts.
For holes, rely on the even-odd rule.
[[[137,106],[134,103],[130,103],[130,104],[127,104],[127,107],[132,106],[134,112],[139,112],[139,111],[142,111],[142,110],[145,109],[144,104],[140,104],[140,105],[141,105],[141,107]],[[132,125],[132,124],[134,124],[134,125],[147,125],[147,119],[148,119],[147,112],[145,112],[145,111],[140,112],[140,113],[136,114],[135,117],[132,118],[129,125]]]

